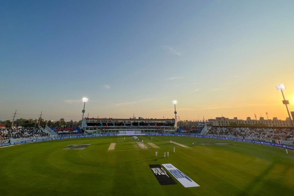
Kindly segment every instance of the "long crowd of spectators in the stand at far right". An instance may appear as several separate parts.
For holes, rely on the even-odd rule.
[[[212,127],[208,134],[253,139],[294,140],[293,128]]]

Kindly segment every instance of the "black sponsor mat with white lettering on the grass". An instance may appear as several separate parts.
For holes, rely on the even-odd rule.
[[[159,164],[149,165],[156,179],[161,185],[177,184],[176,181]]]

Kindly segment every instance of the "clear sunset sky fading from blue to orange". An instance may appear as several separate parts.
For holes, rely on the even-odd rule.
[[[1,1],[0,120],[285,119],[294,1]]]

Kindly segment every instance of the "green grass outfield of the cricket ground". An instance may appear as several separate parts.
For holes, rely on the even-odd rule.
[[[123,136],[0,148],[0,195],[294,195],[292,151],[286,154],[280,148],[209,138],[138,138],[147,149]],[[234,145],[200,145],[202,142]],[[116,146],[108,151],[110,143]],[[72,144],[90,146],[64,150]],[[170,156],[163,158],[167,150]],[[175,178],[176,185],[160,185],[148,165],[162,163],[173,164],[200,187],[184,188]]]

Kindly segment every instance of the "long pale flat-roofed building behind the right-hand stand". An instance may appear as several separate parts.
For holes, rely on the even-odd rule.
[[[251,126],[263,123],[268,127],[291,127],[290,118],[286,118],[286,120],[279,120],[277,117],[268,120],[263,117],[260,117],[259,120],[251,119],[250,117],[247,117],[246,120],[241,120],[237,117],[234,117],[234,119],[216,117],[215,119],[208,119],[208,121],[213,126],[232,126],[232,124],[235,126]]]

